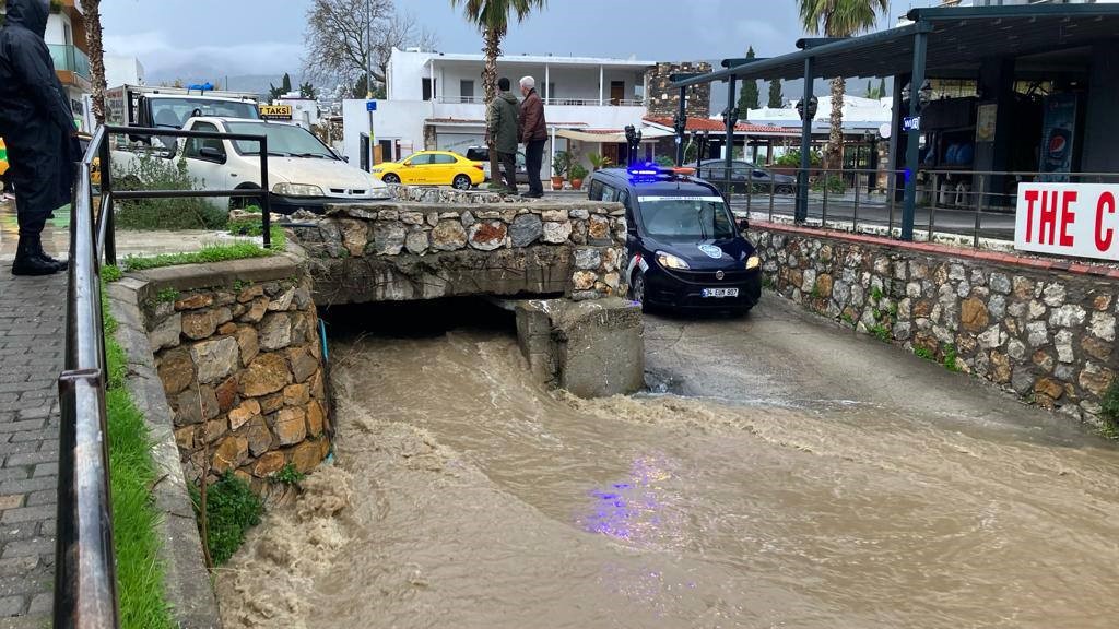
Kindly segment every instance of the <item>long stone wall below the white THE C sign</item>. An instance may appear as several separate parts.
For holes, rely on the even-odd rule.
[[[783,297],[1099,423],[1119,369],[1119,271],[777,225],[751,235]]]

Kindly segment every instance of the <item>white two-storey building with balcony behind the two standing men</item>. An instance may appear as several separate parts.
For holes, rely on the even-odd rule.
[[[603,134],[611,141],[587,150],[609,153],[618,149],[614,134],[629,124],[641,128],[646,72],[655,65],[640,59],[552,55],[499,57],[498,76],[509,78],[518,98],[517,83],[523,76],[536,79],[544,98],[552,139],[545,148],[542,175],[549,173],[553,150],[568,149],[575,141],[572,138]],[[466,152],[469,147],[485,144],[483,67],[482,55],[394,49],[387,68],[387,98],[377,102],[377,111],[370,116],[365,101],[344,104],[345,154],[351,163],[367,163],[370,122],[385,160],[423,149]],[[574,148],[582,152],[580,145]],[[585,153],[582,157],[585,161]]]

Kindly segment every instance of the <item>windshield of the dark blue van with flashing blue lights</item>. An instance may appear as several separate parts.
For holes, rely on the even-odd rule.
[[[734,222],[721,197],[639,197],[641,223],[666,241],[733,238]]]

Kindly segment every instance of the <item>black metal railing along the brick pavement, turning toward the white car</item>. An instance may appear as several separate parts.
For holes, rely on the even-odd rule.
[[[256,142],[261,187],[236,190],[114,190],[109,137],[200,138]],[[119,627],[109,490],[109,417],[101,261],[116,263],[113,203],[116,199],[255,197],[261,199],[264,246],[271,246],[267,138],[241,133],[101,126],[78,165],[70,218],[66,308],[66,363],[58,377],[62,407],[58,456],[58,522],[55,543],[56,629]],[[100,204],[93,168],[100,161]]]

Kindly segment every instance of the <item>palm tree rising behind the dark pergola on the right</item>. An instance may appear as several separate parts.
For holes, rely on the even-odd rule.
[[[852,37],[874,27],[878,13],[890,10],[890,0],[797,0],[805,30],[825,37]],[[831,132],[825,168],[843,168],[843,95],[846,82],[831,79]]]

